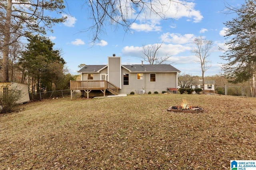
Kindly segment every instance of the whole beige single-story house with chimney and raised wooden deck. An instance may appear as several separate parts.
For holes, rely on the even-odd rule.
[[[108,57],[107,65],[86,65],[78,71],[80,81],[70,81],[71,94],[81,90],[87,97],[106,94],[144,94],[178,87],[178,72],[170,64],[122,65],[121,57]],[[96,90],[96,91],[95,91]],[[97,94],[98,93],[98,94]],[[72,95],[71,95],[72,97]]]

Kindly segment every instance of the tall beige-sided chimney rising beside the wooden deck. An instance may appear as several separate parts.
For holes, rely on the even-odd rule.
[[[121,88],[121,57],[108,57],[108,81]]]

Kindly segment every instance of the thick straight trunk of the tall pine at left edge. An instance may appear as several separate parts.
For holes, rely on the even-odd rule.
[[[4,44],[3,44],[3,79],[9,81],[9,45],[10,45],[10,25],[12,14],[12,0],[8,0],[6,18],[4,25]]]

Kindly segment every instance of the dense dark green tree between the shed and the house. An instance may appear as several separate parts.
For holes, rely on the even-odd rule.
[[[60,51],[54,50],[54,43],[46,37],[30,35],[29,44],[24,51],[20,64],[32,81],[32,92],[55,89],[56,83],[64,78],[65,61]],[[54,87],[52,84],[54,83]]]

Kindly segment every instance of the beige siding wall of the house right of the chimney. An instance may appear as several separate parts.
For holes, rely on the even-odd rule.
[[[129,74],[129,85],[123,85],[123,74]],[[139,90],[145,90],[146,93],[149,91],[162,93],[167,88],[177,88],[176,73],[156,73],[156,82],[150,82],[150,73],[143,73],[143,80],[137,80],[137,73],[130,73],[122,68],[122,89],[119,93],[138,94]]]

